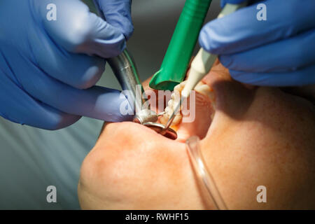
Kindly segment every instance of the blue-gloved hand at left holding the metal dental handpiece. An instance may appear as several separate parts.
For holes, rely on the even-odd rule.
[[[57,20],[47,20],[49,3]],[[94,86],[105,68],[101,57],[118,55],[132,34],[131,2],[97,3],[106,22],[78,0],[1,1],[0,116],[47,130],[80,116],[131,119],[120,114],[120,91]]]

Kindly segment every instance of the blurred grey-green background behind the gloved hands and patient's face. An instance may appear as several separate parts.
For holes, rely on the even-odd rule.
[[[134,0],[134,34],[127,48],[141,80],[160,69],[184,0]],[[214,0],[205,22],[216,18]],[[199,48],[197,44],[196,50]],[[98,85],[120,89],[106,65]],[[63,130],[22,126],[0,117],[0,209],[80,209],[76,187],[80,165],[94,146],[102,120],[81,118]],[[57,203],[46,201],[46,188],[56,186]]]

